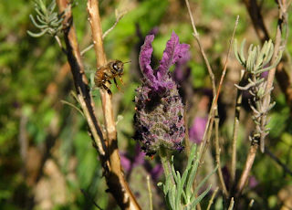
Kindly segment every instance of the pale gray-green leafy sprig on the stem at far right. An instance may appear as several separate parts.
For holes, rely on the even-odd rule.
[[[239,52],[237,52],[237,42],[235,39],[235,57],[248,74],[248,84],[245,87],[235,86],[241,90],[249,89],[250,94],[253,96],[255,105],[251,101],[249,101],[249,104],[253,110],[252,118],[255,122],[255,131],[253,131],[249,138],[251,142],[259,143],[261,151],[264,152],[265,138],[269,131],[266,128],[266,124],[269,121],[266,120],[266,112],[271,110],[276,102],[270,103],[270,92],[273,88],[266,89],[266,79],[262,78],[261,74],[276,67],[282,57],[282,52],[280,51],[274,63],[268,66],[274,54],[274,45],[271,39],[265,42],[262,49],[259,46],[253,47],[251,45],[248,49],[247,59],[244,56],[244,46],[245,40],[242,42]]]

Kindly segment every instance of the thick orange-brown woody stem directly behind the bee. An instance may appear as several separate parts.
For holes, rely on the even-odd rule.
[[[99,17],[99,3],[97,0],[88,1],[89,23],[92,31],[94,49],[97,57],[97,68],[107,62],[102,42],[102,29]],[[117,130],[112,110],[110,95],[104,89],[100,89],[102,109],[104,114],[106,136],[107,136],[107,158],[110,162],[110,170],[105,174],[109,192],[115,197],[121,209],[141,209],[130,188],[125,181],[120,165],[120,154],[118,150]]]

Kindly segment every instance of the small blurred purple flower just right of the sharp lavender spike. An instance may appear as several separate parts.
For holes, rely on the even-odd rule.
[[[208,122],[208,116],[196,117],[193,120],[193,127],[189,130],[190,141],[201,143],[203,140],[203,133]]]

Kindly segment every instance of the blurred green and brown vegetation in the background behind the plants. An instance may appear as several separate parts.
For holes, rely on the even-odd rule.
[[[48,4],[48,2],[47,2]],[[224,67],[229,40],[240,16],[235,37],[247,44],[259,44],[245,5],[235,0],[193,1],[190,2],[193,17],[200,33],[203,47],[219,81]],[[276,34],[277,5],[274,1],[262,1],[262,11],[271,37]],[[210,99],[206,100],[204,89],[211,83],[203,63],[190,18],[184,1],[181,0],[114,0],[100,1],[99,10],[103,30],[115,22],[115,9],[128,11],[118,26],[105,38],[104,47],[108,58],[120,59],[125,65],[120,85],[122,94],[112,86],[112,101],[115,115],[123,118],[118,123],[120,152],[134,163],[136,142],[133,135],[133,115],[135,89],[141,85],[141,72],[138,64],[140,47],[144,37],[155,34],[153,41],[153,64],[162,58],[165,43],[172,30],[180,37],[180,42],[191,45],[191,59],[186,64],[191,69],[190,76],[181,89],[188,105],[189,126],[198,113],[207,114]],[[289,10],[291,11],[291,10]],[[103,209],[119,209],[101,177],[98,155],[91,145],[86,121],[77,110],[61,100],[75,104],[70,96],[74,90],[72,76],[66,56],[53,37],[29,37],[26,30],[38,32],[29,19],[36,16],[33,1],[10,0],[0,4],[0,209],[95,209],[91,197]],[[79,46],[88,47],[91,32],[86,10],[86,1],[79,1],[73,8],[74,24],[77,29]],[[289,25],[291,26],[291,24]],[[62,35],[59,35],[62,40]],[[247,48],[247,47],[246,47]],[[291,38],[287,40],[287,67],[291,67]],[[94,71],[95,55],[91,49],[83,56],[84,66],[89,76]],[[235,86],[238,83],[241,67],[230,58],[228,72],[221,94],[222,115],[220,141],[222,146],[222,165],[228,171],[230,162],[230,142],[235,108]],[[288,68],[287,68],[288,69]],[[291,71],[288,72],[291,75]],[[103,121],[100,108],[99,91],[96,97],[99,120]],[[268,150],[276,159],[292,170],[292,126],[291,113],[285,97],[275,86],[273,100],[276,107],[270,112],[270,135],[266,140]],[[219,107],[220,109],[220,107]],[[243,110],[239,134],[238,174],[245,164],[249,147],[248,135],[252,130],[250,110]],[[183,159],[183,154],[176,154]],[[157,158],[157,157],[156,157]],[[214,168],[214,148],[211,145],[207,156],[205,171]],[[154,168],[159,160],[145,157],[147,165]],[[291,174],[286,173],[278,163],[266,153],[256,155],[252,177],[254,185],[246,186],[241,200],[243,209],[251,199],[255,199],[253,209],[279,209],[292,200]],[[178,165],[178,168],[182,167]],[[145,183],[150,173],[147,167],[137,164],[126,177],[137,195],[143,209],[149,209],[148,191]],[[228,173],[226,173],[228,176]],[[162,176],[159,177],[162,181]],[[154,209],[164,209],[162,190],[156,187],[157,180],[151,181],[154,196]],[[214,188],[219,185],[217,178],[210,181]],[[141,187],[137,187],[137,185]],[[80,192],[83,189],[87,195]],[[208,202],[208,195],[203,206]],[[217,194],[213,209],[222,209],[222,194]],[[290,204],[290,206],[292,206]],[[203,208],[204,209],[204,208]],[[284,208],[283,208],[284,209]]]

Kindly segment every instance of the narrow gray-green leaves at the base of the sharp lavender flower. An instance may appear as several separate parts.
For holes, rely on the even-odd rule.
[[[165,184],[163,184],[163,192],[165,195],[166,204],[169,209],[195,209],[195,205],[197,205],[209,192],[211,185],[202,194],[196,196],[199,189],[207,181],[207,179],[217,170],[218,166],[214,169],[212,173],[207,175],[203,179],[203,181],[198,184],[197,187],[193,190],[193,181],[198,169],[199,161],[200,158],[199,153],[196,152],[196,144],[193,144],[188,164],[182,176],[181,173],[179,173],[178,171],[175,172],[172,156],[172,176],[175,184],[172,184],[171,175],[166,177]],[[162,185],[162,183],[159,183],[158,185]]]

